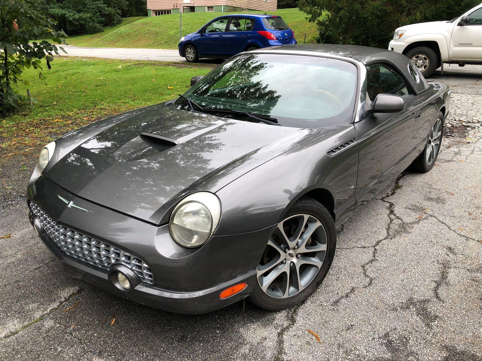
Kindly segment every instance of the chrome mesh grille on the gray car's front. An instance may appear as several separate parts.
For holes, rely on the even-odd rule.
[[[142,259],[134,257],[113,245],[58,224],[33,202],[30,202],[30,208],[40,220],[42,227],[50,238],[67,255],[104,270],[109,270],[114,263],[120,263],[133,270],[143,282],[153,284],[152,272]]]

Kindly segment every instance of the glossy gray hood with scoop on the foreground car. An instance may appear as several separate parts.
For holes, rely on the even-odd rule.
[[[108,127],[99,122],[94,136],[83,138],[44,176],[82,198],[155,224],[165,221],[168,208],[186,194],[216,192],[319,132],[203,115],[164,104],[119,118],[118,122],[111,118]],[[178,144],[155,142],[141,133]],[[70,136],[70,142],[75,137]]]

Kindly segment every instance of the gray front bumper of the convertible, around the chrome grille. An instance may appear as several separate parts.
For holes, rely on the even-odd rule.
[[[91,212],[67,208],[58,195]],[[247,297],[256,282],[255,269],[272,229],[214,236],[200,248],[187,249],[174,242],[168,225],[149,224],[98,206],[44,177],[28,187],[27,202],[29,206],[35,202],[62,226],[143,259],[152,271],[153,284],[139,282],[130,290],[121,290],[112,281],[112,268],[105,270],[69,256],[48,233],[40,232],[40,239],[67,272],[117,296],[184,314],[210,312]],[[32,222],[34,216],[30,215]],[[232,297],[219,298],[223,290],[239,283],[248,285]]]

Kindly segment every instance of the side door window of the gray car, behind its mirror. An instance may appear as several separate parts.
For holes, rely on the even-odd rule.
[[[370,64],[366,66],[366,90],[370,100],[378,94],[409,94],[403,78],[387,64]]]

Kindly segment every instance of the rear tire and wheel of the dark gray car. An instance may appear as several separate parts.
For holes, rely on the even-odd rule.
[[[427,143],[422,153],[411,164],[411,167],[415,172],[427,173],[433,168],[437,156],[440,152],[440,145],[443,138],[443,114],[439,112],[435,117],[435,121],[430,128],[428,134]]]

